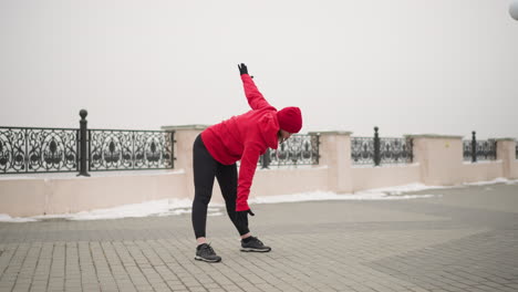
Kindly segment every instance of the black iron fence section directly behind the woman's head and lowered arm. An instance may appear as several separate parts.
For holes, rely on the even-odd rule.
[[[268,149],[259,159],[261,168],[318,165],[320,135],[292,135],[277,150]]]

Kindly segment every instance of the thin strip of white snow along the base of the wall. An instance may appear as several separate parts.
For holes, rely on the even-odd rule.
[[[506,178],[497,178],[490,181],[466,182],[465,186],[487,186],[494,184],[516,185],[517,180],[508,180]],[[425,186],[423,184],[411,184],[397,187],[369,189],[354,194],[339,195],[330,191],[312,191],[294,195],[266,196],[250,198],[250,204],[279,204],[279,202],[296,202],[296,201],[318,201],[318,200],[404,200],[404,199],[422,199],[437,197],[441,195],[402,195],[414,191],[429,189],[446,189],[453,187]],[[124,205],[114,208],[96,209],[91,211],[82,211],[77,213],[63,215],[45,215],[27,218],[12,218],[9,215],[0,213],[0,222],[31,222],[45,219],[66,219],[66,220],[100,220],[100,219],[118,219],[127,217],[147,217],[147,216],[173,216],[191,212],[193,201],[190,199],[164,199],[146,201],[142,204]],[[225,212],[224,205],[210,204],[208,216],[221,216]]]

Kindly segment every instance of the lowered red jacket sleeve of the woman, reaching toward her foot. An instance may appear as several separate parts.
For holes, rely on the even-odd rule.
[[[250,187],[260,155],[260,147],[258,147],[258,145],[253,143],[245,145],[245,150],[241,156],[241,165],[239,167],[236,211],[246,211],[250,209],[250,207],[248,207],[248,196],[250,195]]]

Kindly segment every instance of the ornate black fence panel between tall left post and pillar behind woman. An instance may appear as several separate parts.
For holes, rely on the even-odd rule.
[[[174,133],[90,129],[90,171],[173,168]]]

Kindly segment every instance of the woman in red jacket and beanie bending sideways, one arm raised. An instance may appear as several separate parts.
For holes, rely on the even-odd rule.
[[[213,196],[214,179],[218,180],[227,213],[241,236],[241,251],[268,252],[257,237],[248,229],[248,196],[256,173],[259,156],[268,147],[277,149],[279,143],[288,139],[302,127],[299,107],[277,111],[257,90],[247,66],[238,65],[245,95],[251,111],[234,116],[206,128],[194,143],[193,167],[195,198],[193,201],[193,228],[196,236],[196,260],[219,262],[221,258],[207,244],[205,228],[207,206]],[[241,160],[239,175],[236,161]]]

